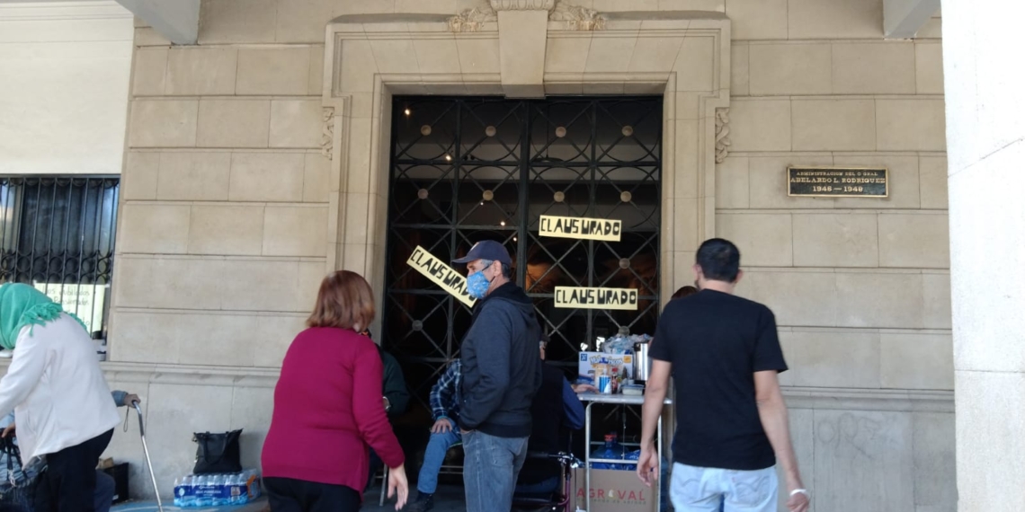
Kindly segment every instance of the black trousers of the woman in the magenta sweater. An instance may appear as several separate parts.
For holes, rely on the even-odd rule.
[[[357,512],[360,494],[344,485],[269,476],[263,488],[271,512]]]

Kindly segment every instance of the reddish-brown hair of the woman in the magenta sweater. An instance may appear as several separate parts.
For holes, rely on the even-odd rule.
[[[334,327],[356,332],[374,321],[374,293],[362,275],[348,270],[331,272],[321,283],[309,327]]]

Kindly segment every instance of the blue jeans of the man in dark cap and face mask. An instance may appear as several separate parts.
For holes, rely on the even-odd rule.
[[[527,460],[527,437],[496,437],[481,431],[462,434],[462,479],[466,512],[512,508],[512,489]]]

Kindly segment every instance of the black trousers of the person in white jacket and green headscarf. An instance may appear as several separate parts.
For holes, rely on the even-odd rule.
[[[46,456],[36,489],[38,512],[93,512],[96,461],[114,436],[108,430],[87,441]]]

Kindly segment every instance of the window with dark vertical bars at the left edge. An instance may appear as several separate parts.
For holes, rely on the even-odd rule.
[[[106,337],[118,176],[0,176],[0,282],[36,287]]]

